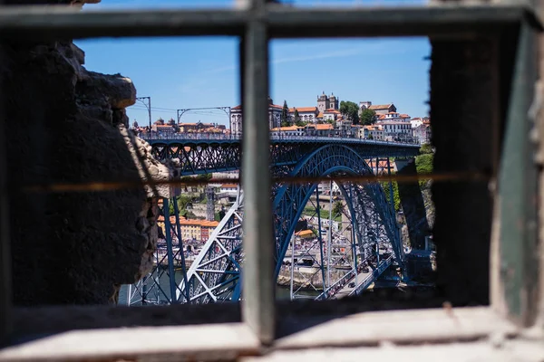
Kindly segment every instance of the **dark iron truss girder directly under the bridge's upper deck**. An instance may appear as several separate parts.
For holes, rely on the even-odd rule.
[[[355,139],[355,138],[354,138]],[[148,139],[151,153],[163,163],[177,170],[178,176],[190,176],[238,170],[241,147],[238,138],[233,139]],[[413,157],[419,148],[413,145],[364,143],[343,141],[340,138],[328,140],[298,138],[274,139],[270,143],[270,165],[274,174],[281,169],[295,166],[302,157],[325,145],[348,143],[364,157]],[[283,167],[283,168],[282,168]]]

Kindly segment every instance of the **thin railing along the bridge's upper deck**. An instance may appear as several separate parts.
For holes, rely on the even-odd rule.
[[[214,133],[158,133],[158,132],[141,132],[138,134],[138,137],[145,140],[180,140],[180,141],[189,141],[189,140],[224,140],[224,141],[241,141],[241,135],[225,135],[225,134],[214,134]],[[418,142],[400,142],[400,141],[388,141],[388,140],[375,140],[367,138],[348,138],[348,137],[336,137],[336,136],[270,136],[271,140],[282,141],[282,140],[293,140],[293,141],[320,141],[320,142],[360,142],[373,145],[405,145],[405,146],[420,146]]]

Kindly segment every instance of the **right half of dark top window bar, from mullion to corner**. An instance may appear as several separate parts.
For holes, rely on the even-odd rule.
[[[529,17],[528,5],[432,5],[408,8],[303,9],[269,6],[272,37],[422,36],[480,33],[490,25],[517,24]]]

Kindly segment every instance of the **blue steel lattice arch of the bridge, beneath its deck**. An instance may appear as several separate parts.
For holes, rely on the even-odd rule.
[[[354,148],[329,144],[316,148],[302,158],[290,171],[290,176],[317,177],[338,173],[374,175],[371,167]],[[316,183],[289,184],[277,186],[273,190],[276,279],[296,223],[316,187]],[[356,241],[352,243],[363,251],[363,255],[367,254],[364,251],[377,243],[392,243],[394,259],[402,263],[403,248],[394,211],[385,199],[382,186],[371,182],[363,185],[349,183],[341,186],[341,189],[354,218]],[[206,303],[240,298],[240,269],[244,259],[241,248],[242,219],[243,194],[240,194],[189,268],[188,282],[180,284],[179,295],[181,291],[186,293],[188,288],[189,302]],[[322,295],[327,298],[327,291]]]

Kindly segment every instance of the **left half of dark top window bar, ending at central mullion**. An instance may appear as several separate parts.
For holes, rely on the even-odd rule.
[[[247,11],[79,11],[68,6],[0,6],[0,36],[91,38],[168,35],[241,35]],[[18,36],[19,35],[19,36]]]

